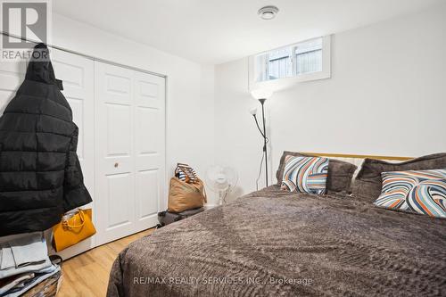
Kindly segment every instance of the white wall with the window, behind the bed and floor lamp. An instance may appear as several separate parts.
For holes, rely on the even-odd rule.
[[[266,104],[270,174],[284,150],[446,152],[445,28],[443,4],[335,34],[332,78],[296,84]],[[216,67],[216,158],[239,172],[233,196],[255,189],[260,165],[262,140],[249,114],[260,105],[249,95],[247,73],[247,58]]]

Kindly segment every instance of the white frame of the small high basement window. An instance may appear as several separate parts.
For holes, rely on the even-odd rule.
[[[311,80],[318,80],[318,79],[326,79],[331,78],[331,36],[327,35],[322,38],[322,70],[317,72],[310,72],[310,73],[303,73],[299,75],[294,75],[292,77],[286,77],[286,78],[277,78],[277,79],[271,79],[271,80],[264,80],[264,81],[257,81],[256,76],[258,75],[258,72],[256,71],[256,57],[260,54],[268,54],[268,52],[263,52],[259,54],[254,54],[249,57],[249,86],[250,89],[257,89],[257,88],[268,88],[272,91],[277,91],[280,89],[284,89],[286,87],[291,87],[297,83],[304,82],[304,81],[311,81]],[[311,38],[315,39],[315,38]],[[311,40],[308,39],[308,40]],[[307,40],[301,41],[305,42]],[[299,43],[294,43],[293,45],[289,45],[291,50],[295,50],[295,46],[299,45]],[[283,46],[286,47],[286,46]],[[294,52],[292,52],[292,67],[293,72],[295,71],[295,63],[296,59],[293,55]],[[267,66],[268,67],[268,66]]]

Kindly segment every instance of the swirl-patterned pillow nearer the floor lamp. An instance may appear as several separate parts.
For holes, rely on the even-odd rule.
[[[282,189],[290,192],[324,194],[328,159],[318,157],[285,157]]]

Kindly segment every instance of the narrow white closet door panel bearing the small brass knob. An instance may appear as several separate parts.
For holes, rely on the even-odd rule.
[[[98,244],[134,233],[132,70],[95,62]]]

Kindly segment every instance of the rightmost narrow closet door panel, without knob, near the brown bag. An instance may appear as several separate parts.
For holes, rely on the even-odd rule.
[[[165,79],[135,74],[136,225],[157,223],[165,199]]]

